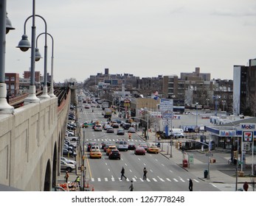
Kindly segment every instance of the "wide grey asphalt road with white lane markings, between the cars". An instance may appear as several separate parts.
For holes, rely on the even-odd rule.
[[[85,109],[80,112],[78,121],[106,121],[102,116],[101,108]],[[115,143],[120,136],[102,132],[94,132],[93,129],[86,128],[85,143],[95,141],[99,145],[102,141]],[[127,141],[132,141],[138,145],[143,140],[139,135],[133,134],[128,140],[128,133],[122,136]],[[102,159],[90,159],[86,154],[86,180],[94,186],[95,191],[129,191],[131,180],[134,181],[134,191],[188,191],[189,179],[193,180],[194,191],[218,191],[217,188],[201,181],[188,171],[180,168],[172,160],[168,160],[162,154],[135,155],[134,151],[121,152],[121,160],[109,160],[103,152]],[[127,180],[120,180],[122,166],[125,168]],[[148,169],[147,180],[142,180],[143,168]]]

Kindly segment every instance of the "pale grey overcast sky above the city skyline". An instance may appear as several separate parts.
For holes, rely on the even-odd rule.
[[[15,27],[6,36],[5,72],[30,69],[31,51],[15,48],[32,15],[32,0],[7,0]],[[104,73],[158,77],[193,72],[233,79],[234,65],[256,57],[256,1],[253,0],[41,0],[35,1],[36,35],[54,39],[55,82]],[[32,18],[26,33],[31,42]],[[44,57],[44,35],[38,49]],[[47,38],[51,73],[52,39]],[[44,59],[35,63],[44,75]]]

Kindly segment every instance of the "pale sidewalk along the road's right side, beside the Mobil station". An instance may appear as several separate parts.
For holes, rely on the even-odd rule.
[[[136,132],[137,135],[139,135],[143,140],[145,140],[144,136],[142,136],[142,131]],[[148,143],[153,143],[156,144],[156,136],[154,132],[148,132],[148,140],[145,140]],[[175,140],[179,141],[179,140]],[[175,142],[174,141],[174,142]],[[170,161],[173,161],[176,163],[178,166],[183,168],[184,170],[190,172],[191,174],[195,175],[198,177],[198,179],[208,182],[212,185],[218,185],[218,188],[221,189],[221,191],[235,191],[235,185],[236,185],[236,177],[235,177],[235,166],[230,166],[227,163],[226,164],[219,164],[219,163],[210,163],[210,179],[207,180],[207,178],[204,178],[204,170],[208,171],[208,163],[202,163],[200,160],[197,160],[196,158],[193,159],[193,164],[190,164],[188,167],[183,167],[183,160],[184,158],[187,160],[188,155],[184,154],[187,152],[182,152],[180,149],[176,149],[176,146],[172,146],[171,149],[171,154],[170,151],[167,149],[167,143],[170,142],[170,140],[162,140],[162,141],[157,141],[160,143],[166,143],[165,148],[163,149],[161,146],[160,148],[160,154],[164,155],[167,159]],[[198,151],[201,152],[201,151]],[[189,153],[189,152],[188,152]],[[220,152],[221,153],[221,152]],[[172,157],[170,157],[172,156]],[[252,163],[252,158],[246,157],[246,163]],[[228,171],[227,174],[225,174],[222,171]],[[248,171],[248,170],[247,170]],[[249,172],[250,174],[250,172]],[[243,183],[244,182],[252,182],[251,177],[238,177],[238,189],[243,188]],[[249,190],[252,191],[252,184],[249,183]]]

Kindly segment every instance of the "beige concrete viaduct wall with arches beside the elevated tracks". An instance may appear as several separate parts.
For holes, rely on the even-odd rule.
[[[13,115],[0,115],[0,184],[49,190],[45,183],[51,187],[60,174],[69,101],[70,95],[58,107],[57,98],[41,100],[15,109]]]

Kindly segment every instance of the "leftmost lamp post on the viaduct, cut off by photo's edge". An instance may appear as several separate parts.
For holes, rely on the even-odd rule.
[[[0,113],[12,114],[14,113],[14,107],[10,106],[6,99],[7,86],[5,84],[5,37],[10,29],[14,28],[11,26],[9,18],[7,18],[6,5],[6,0],[0,0]]]

